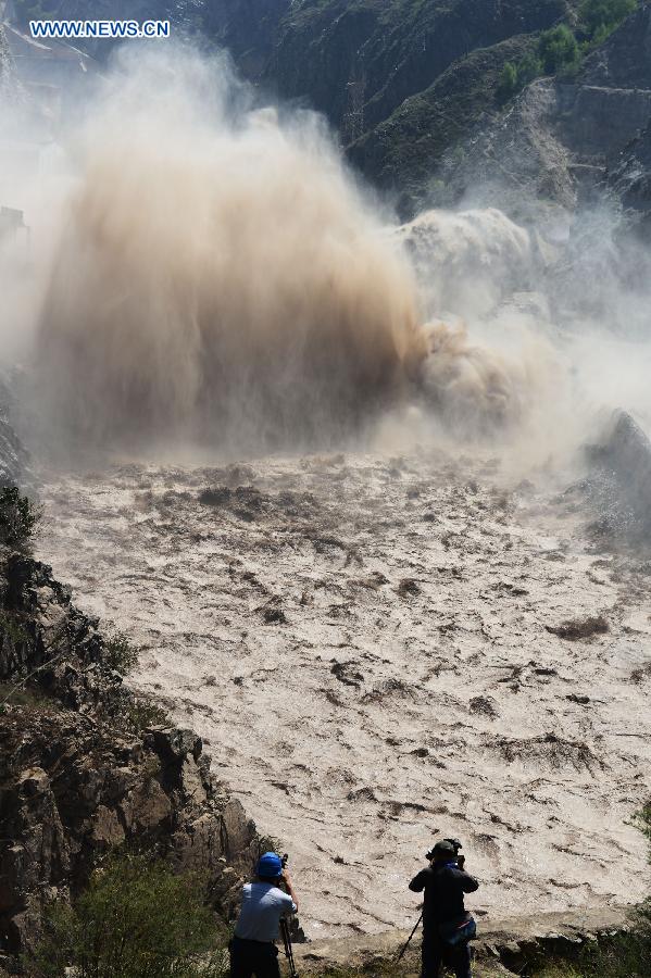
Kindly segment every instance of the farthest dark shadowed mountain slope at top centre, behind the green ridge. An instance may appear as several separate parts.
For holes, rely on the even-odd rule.
[[[262,77],[285,97],[308,97],[345,137],[355,125],[362,135],[472,51],[567,11],[565,0],[305,0],[281,21]]]

